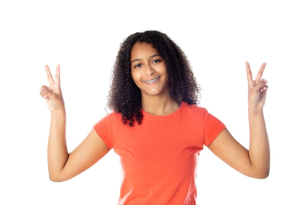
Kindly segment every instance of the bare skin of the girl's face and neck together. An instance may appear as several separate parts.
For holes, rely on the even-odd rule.
[[[169,95],[167,66],[156,49],[149,43],[135,43],[130,61],[132,79],[141,90],[142,109],[152,115],[175,112],[179,106]]]

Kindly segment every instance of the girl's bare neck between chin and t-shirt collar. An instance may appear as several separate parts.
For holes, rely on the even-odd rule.
[[[165,116],[174,113],[178,110],[179,105],[174,101],[170,95],[162,96],[142,96],[141,100],[142,109],[155,116]]]

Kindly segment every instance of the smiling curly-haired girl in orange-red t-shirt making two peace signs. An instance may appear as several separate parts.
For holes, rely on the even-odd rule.
[[[253,80],[246,62],[249,149],[226,126],[198,106],[200,88],[184,52],[166,34],[138,32],[121,44],[108,95],[112,110],[68,153],[60,65],[40,88],[51,112],[48,170],[52,181],[79,175],[110,149],[123,168],[119,205],[195,205],[199,152],[207,146],[240,173],[266,178],[269,140],[263,116],[266,63]]]

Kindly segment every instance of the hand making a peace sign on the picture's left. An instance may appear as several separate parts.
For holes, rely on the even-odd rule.
[[[48,65],[45,66],[49,87],[42,86],[40,95],[45,99],[50,112],[62,111],[65,112],[64,100],[60,87],[60,65],[57,65],[55,81],[49,70]]]

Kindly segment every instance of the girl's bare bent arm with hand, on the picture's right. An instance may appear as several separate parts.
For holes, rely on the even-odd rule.
[[[254,178],[266,178],[270,171],[270,146],[263,115],[267,81],[262,79],[266,63],[252,79],[250,65],[246,62],[248,83],[249,150],[238,143],[227,129],[224,129],[209,145],[220,159],[242,174]]]

